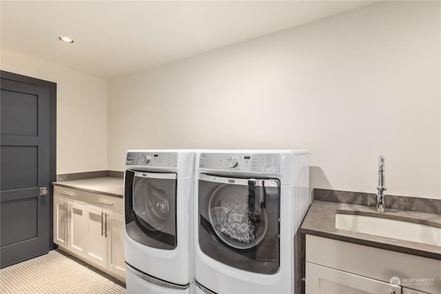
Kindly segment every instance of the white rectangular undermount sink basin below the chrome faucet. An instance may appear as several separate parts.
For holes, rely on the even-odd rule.
[[[336,229],[441,246],[441,228],[378,216],[336,213]]]

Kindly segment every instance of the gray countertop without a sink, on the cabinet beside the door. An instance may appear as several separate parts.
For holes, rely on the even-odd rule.
[[[86,178],[81,180],[65,180],[52,182],[52,185],[123,198],[123,182],[123,178],[113,178],[106,176],[100,178]]]

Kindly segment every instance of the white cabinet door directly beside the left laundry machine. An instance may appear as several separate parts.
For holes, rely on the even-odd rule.
[[[110,216],[110,266],[114,273],[125,277],[124,216],[120,213]]]

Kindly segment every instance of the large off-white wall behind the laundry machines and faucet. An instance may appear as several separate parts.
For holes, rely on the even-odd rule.
[[[387,1],[109,81],[126,149],[309,149],[311,188],[441,198],[440,2]],[[148,54],[148,52],[146,52]]]

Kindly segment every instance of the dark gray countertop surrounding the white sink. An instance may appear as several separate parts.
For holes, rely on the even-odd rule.
[[[387,209],[385,213],[378,213],[373,207],[314,200],[309,207],[305,220],[303,220],[302,225],[300,226],[300,232],[441,260],[441,246],[420,244],[417,242],[396,240],[377,235],[336,229],[336,213],[359,214],[365,216],[378,215],[382,218],[429,224],[433,227],[441,228],[440,214],[398,209]]]

